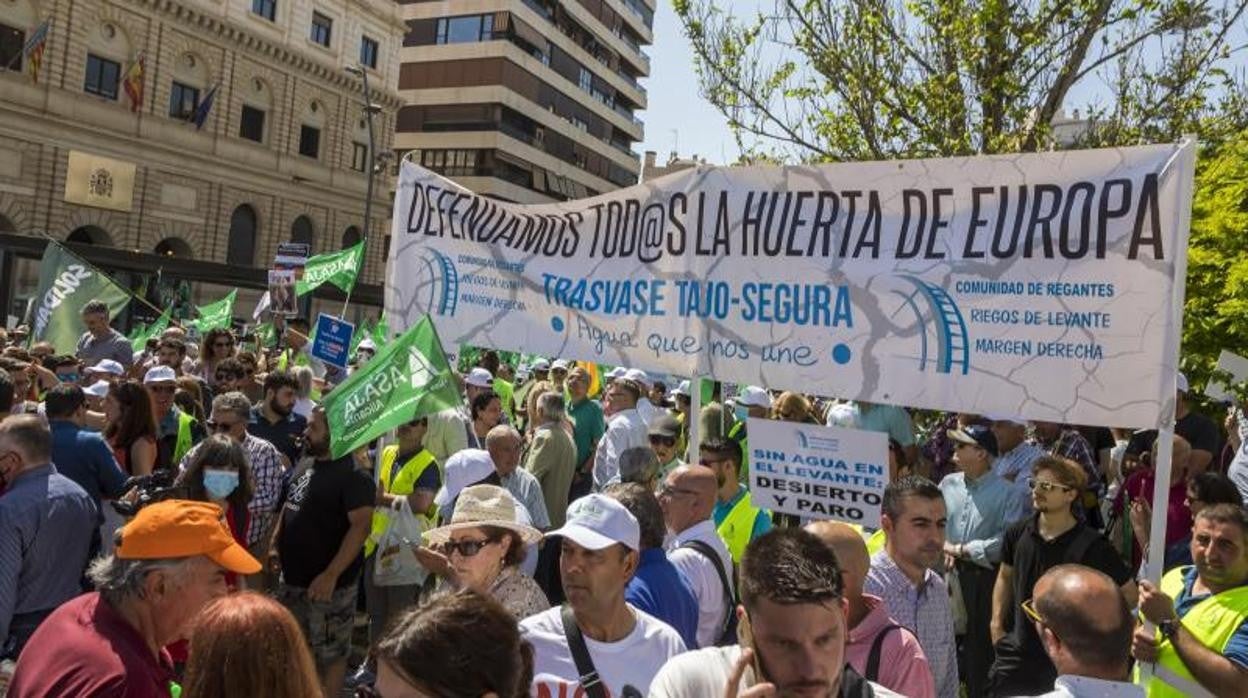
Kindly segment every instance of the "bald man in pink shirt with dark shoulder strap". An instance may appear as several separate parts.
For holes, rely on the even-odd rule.
[[[816,521],[806,531],[827,543],[841,566],[842,596],[849,603],[845,661],[862,678],[902,696],[935,698],[936,683],[919,638],[889,617],[884,599],[862,592],[871,568],[862,534],[839,521]]]

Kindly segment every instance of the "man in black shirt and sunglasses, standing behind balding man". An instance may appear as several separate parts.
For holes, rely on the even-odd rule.
[[[1001,568],[992,591],[992,642],[996,659],[988,672],[988,696],[1036,696],[1052,691],[1057,669],[1045,652],[1022,603],[1036,581],[1058,564],[1083,564],[1108,574],[1134,606],[1136,582],[1108,541],[1075,517],[1086,482],[1083,467],[1046,456],[1032,466],[1031,497],[1036,514],[1006,529]]]

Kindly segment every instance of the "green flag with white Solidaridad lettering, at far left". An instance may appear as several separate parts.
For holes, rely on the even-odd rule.
[[[77,351],[86,332],[82,306],[104,301],[114,317],[130,302],[130,292],[77,255],[49,242],[39,263],[39,291],[31,320],[30,342],[51,342],[56,353]]]

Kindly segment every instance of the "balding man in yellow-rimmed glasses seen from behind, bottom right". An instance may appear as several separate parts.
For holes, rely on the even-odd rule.
[[[1023,611],[1036,626],[1057,681],[1042,698],[1139,697],[1126,681],[1136,623],[1127,598],[1108,574],[1082,564],[1058,564],[1036,582]]]

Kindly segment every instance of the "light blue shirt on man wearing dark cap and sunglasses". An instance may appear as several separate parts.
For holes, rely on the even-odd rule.
[[[1006,528],[1027,514],[1011,483],[992,471],[978,479],[955,472],[940,481],[940,491],[948,517],[945,529],[948,542],[961,543],[976,564],[995,567],[1001,562]]]

